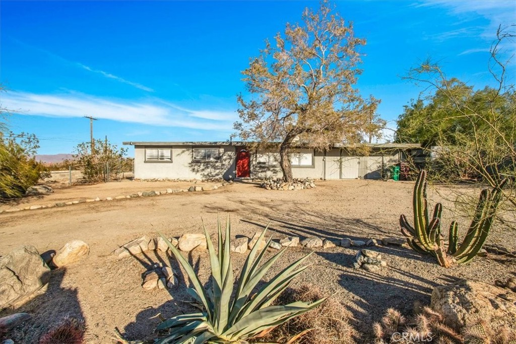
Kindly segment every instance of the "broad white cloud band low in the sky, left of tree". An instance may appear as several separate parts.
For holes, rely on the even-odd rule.
[[[237,118],[235,111],[192,110],[170,106],[159,99],[143,101],[112,100],[80,94],[35,94],[9,92],[2,96],[2,105],[19,109],[20,114],[45,117],[83,117],[139,123],[154,126],[228,132]]]

